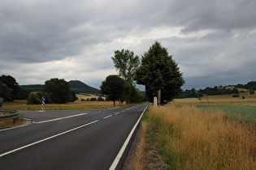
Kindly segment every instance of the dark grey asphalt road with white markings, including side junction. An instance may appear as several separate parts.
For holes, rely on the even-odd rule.
[[[147,105],[22,113],[33,123],[0,131],[0,169],[109,169]]]

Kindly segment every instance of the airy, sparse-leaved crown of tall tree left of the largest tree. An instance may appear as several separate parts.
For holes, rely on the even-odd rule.
[[[132,83],[135,70],[140,65],[140,58],[128,49],[116,50],[115,56],[111,58],[119,75],[128,83]]]

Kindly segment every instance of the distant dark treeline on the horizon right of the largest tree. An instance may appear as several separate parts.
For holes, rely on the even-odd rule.
[[[181,98],[199,98],[204,95],[215,96],[215,95],[231,95],[231,94],[239,94],[237,88],[245,88],[249,91],[256,90],[256,82],[249,82],[245,85],[237,84],[237,85],[229,85],[228,87],[215,86],[215,87],[206,87],[205,89],[195,90],[192,88],[191,90],[181,91],[180,96],[177,96],[176,99]],[[252,93],[250,93],[252,94]]]

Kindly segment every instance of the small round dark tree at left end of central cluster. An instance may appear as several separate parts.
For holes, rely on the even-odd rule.
[[[125,95],[125,80],[118,75],[108,75],[106,80],[102,82],[101,93],[107,96],[108,100],[121,100]]]

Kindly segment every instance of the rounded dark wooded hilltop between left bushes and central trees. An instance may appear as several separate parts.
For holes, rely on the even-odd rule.
[[[71,80],[68,82],[71,91],[78,93],[89,93],[89,94],[100,94],[101,91],[97,88],[88,86],[85,83],[80,82],[79,80]]]

